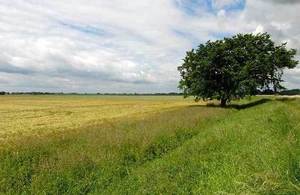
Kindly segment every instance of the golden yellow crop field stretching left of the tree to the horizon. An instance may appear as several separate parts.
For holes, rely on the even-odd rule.
[[[0,140],[77,129],[117,117],[195,104],[179,96],[11,95],[0,97]]]

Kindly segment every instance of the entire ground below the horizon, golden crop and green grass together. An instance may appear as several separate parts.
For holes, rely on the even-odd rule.
[[[4,194],[299,194],[300,99],[1,97]]]

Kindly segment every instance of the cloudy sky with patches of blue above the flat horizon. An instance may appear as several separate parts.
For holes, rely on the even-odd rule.
[[[0,91],[176,92],[187,50],[268,32],[299,50],[300,0],[0,0]],[[284,86],[300,88],[300,65]]]

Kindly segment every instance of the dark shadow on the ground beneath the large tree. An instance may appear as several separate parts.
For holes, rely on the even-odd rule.
[[[253,101],[253,102],[249,102],[246,104],[229,104],[225,107],[221,107],[220,104],[214,104],[214,103],[209,103],[207,105],[191,105],[191,107],[216,107],[216,108],[229,108],[229,109],[237,109],[237,110],[243,110],[243,109],[247,109],[247,108],[251,108],[254,106],[258,106],[264,103],[267,103],[269,101],[272,101],[271,99],[267,99],[267,98],[263,98],[257,101]]]

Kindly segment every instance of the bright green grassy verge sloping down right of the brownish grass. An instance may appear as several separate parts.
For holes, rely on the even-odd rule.
[[[299,194],[299,103],[272,101],[234,113],[107,192]]]

